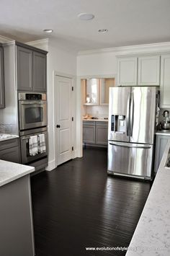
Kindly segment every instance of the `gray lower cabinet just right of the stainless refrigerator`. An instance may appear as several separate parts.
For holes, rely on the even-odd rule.
[[[167,135],[156,135],[154,172],[158,171],[159,164],[161,162],[162,156],[166,148],[166,144],[169,139],[170,139],[170,136],[167,136]]]

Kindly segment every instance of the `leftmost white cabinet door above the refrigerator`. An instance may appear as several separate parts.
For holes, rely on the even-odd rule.
[[[137,85],[137,57],[118,58],[117,85]]]

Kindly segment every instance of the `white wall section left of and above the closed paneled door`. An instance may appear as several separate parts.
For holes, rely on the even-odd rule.
[[[54,72],[63,75],[76,76],[76,53],[71,53],[67,49],[61,49],[53,40],[39,40],[30,42],[37,48],[48,50],[48,167],[52,170],[57,166],[55,159],[55,110],[54,110]],[[76,115],[76,114],[75,114]],[[76,131],[75,131],[76,133]]]

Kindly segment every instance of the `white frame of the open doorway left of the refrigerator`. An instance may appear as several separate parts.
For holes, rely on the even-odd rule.
[[[92,78],[114,78],[115,86],[117,84],[117,75],[116,74],[95,74],[95,75],[86,75],[86,76],[77,76],[76,79],[76,157],[83,156],[83,121],[82,121],[82,109],[81,104],[83,102],[83,88],[81,87],[81,79],[92,79]]]

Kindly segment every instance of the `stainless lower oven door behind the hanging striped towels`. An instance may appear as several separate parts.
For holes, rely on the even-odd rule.
[[[39,134],[45,134],[45,146],[46,151],[43,153],[38,153],[35,156],[30,156],[30,150],[29,150],[29,139],[30,136],[39,135]],[[42,159],[43,157],[47,156],[47,132],[41,132],[41,133],[34,133],[27,136],[21,136],[20,137],[20,143],[21,143],[21,156],[22,156],[22,164],[30,164],[31,162],[35,162],[38,159]]]

